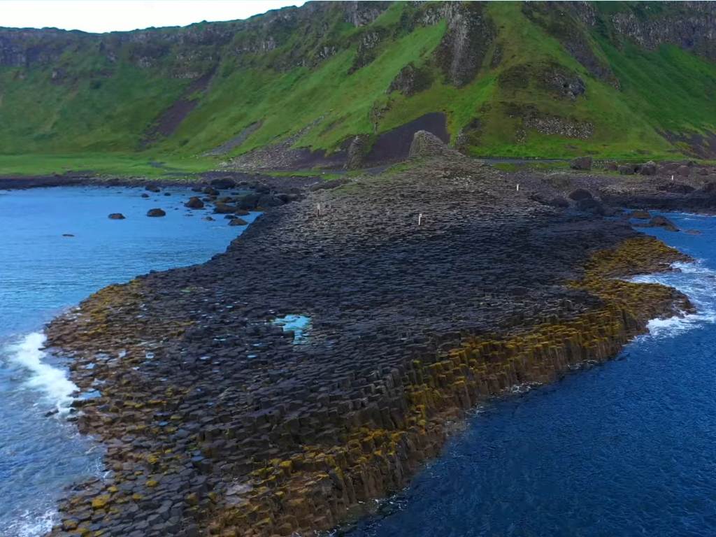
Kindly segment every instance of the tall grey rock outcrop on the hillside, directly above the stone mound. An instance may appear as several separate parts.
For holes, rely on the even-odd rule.
[[[472,82],[497,34],[480,2],[448,2],[445,6],[448,31],[435,51],[450,84]]]

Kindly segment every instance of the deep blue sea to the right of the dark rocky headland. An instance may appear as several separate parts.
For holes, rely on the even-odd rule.
[[[618,359],[485,405],[352,537],[716,535],[716,218],[648,230],[700,261],[648,276],[699,313]],[[343,532],[337,532],[343,533]]]

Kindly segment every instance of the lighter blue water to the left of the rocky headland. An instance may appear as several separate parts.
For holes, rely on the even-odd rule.
[[[142,192],[0,191],[0,536],[42,535],[62,488],[101,472],[102,448],[68,421],[75,387],[64,361],[40,349],[44,323],[107,284],[205,261],[244,229],[184,208],[188,190]],[[167,216],[148,218],[150,208]]]

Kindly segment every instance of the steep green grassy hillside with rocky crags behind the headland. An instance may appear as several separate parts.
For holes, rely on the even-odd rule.
[[[367,153],[429,112],[471,155],[716,158],[715,15],[310,2],[185,28],[0,29],[0,174],[192,172],[356,136]]]

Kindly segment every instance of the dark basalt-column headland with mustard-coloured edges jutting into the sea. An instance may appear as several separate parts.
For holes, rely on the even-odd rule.
[[[72,380],[101,392],[75,419],[110,472],[68,491],[52,536],[332,528],[402,488],[478,402],[603,362],[649,319],[692,309],[626,280],[688,258],[615,207],[713,203],[708,173],[679,193],[662,189],[670,173],[502,173],[426,132],[410,155],[301,188],[226,253],[49,324]]]

